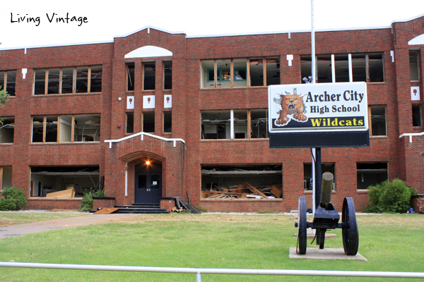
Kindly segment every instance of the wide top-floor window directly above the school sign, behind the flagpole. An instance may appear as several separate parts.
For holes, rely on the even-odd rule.
[[[382,53],[317,55],[317,83],[384,82]],[[310,55],[300,56],[301,82],[312,79]]]

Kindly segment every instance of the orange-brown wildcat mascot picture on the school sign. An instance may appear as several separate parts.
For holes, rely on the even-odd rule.
[[[294,88],[293,94],[285,91],[285,94],[280,94],[280,98],[273,98],[273,102],[281,106],[281,111],[277,112],[280,116],[274,122],[276,126],[287,125],[292,118],[301,123],[307,121],[307,116],[305,116],[306,106],[305,102],[303,102],[303,96],[298,94],[297,88]]]

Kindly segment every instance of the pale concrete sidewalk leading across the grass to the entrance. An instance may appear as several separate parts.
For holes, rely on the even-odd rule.
[[[139,214],[90,214],[85,216],[68,217],[65,219],[52,219],[49,221],[38,221],[14,226],[0,227],[0,239],[40,233],[54,229],[88,226],[96,223],[108,223],[138,216]]]

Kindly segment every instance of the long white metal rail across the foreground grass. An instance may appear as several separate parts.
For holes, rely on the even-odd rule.
[[[31,263],[31,262],[0,262],[0,267],[196,274],[196,282],[201,282],[201,274],[424,278],[424,272],[394,272],[394,271],[335,271],[335,270],[296,270],[296,269],[196,269],[196,268],[185,268],[185,267],[116,266],[116,265],[112,266],[112,265],[91,265],[91,264],[40,264],[40,263]]]

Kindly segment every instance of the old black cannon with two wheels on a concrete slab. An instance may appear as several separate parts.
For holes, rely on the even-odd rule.
[[[306,254],[307,228],[316,231],[317,245],[319,249],[324,249],[325,233],[329,229],[342,229],[343,249],[346,255],[356,255],[359,246],[358,225],[356,224],[355,206],[351,197],[345,197],[340,215],[331,204],[331,190],[333,188],[334,176],[330,172],[322,175],[322,190],[320,203],[314,213],[312,222],[307,221],[306,199],[299,197],[298,222],[298,242],[296,252],[298,255]]]

